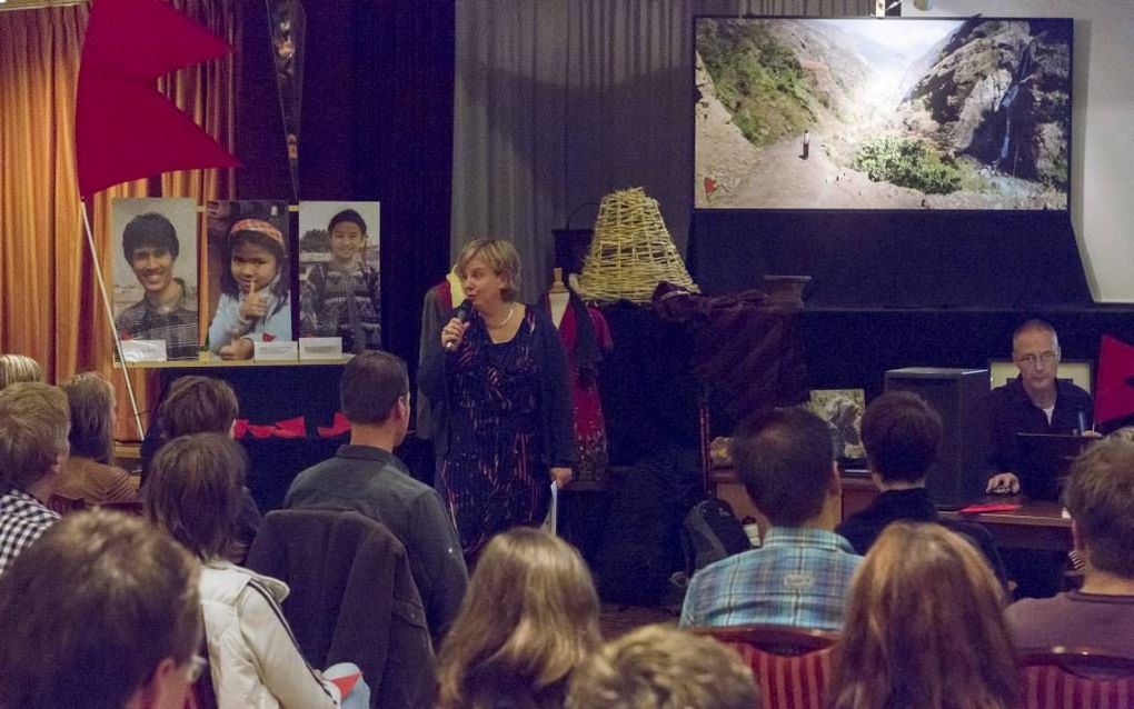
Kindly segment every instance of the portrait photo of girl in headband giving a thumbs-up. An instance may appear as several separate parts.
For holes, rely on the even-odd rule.
[[[227,234],[220,238],[217,225],[210,223],[211,243],[221,242],[221,258],[220,297],[209,326],[209,349],[222,360],[252,358],[255,341],[291,339],[287,234],[277,226],[286,212],[273,223],[234,211],[234,205],[243,204],[210,204],[211,219],[230,218]],[[272,216],[279,213],[277,210]]]

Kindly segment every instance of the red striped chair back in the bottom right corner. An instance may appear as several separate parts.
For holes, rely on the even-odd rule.
[[[1134,707],[1134,656],[1085,648],[1019,652],[1027,709],[1127,709]]]

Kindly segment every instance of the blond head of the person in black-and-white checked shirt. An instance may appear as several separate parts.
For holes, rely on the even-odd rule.
[[[69,432],[70,410],[58,388],[26,381],[0,390],[0,479],[27,492],[58,473]]]

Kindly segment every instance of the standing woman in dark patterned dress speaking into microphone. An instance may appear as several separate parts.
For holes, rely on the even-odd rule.
[[[567,360],[550,318],[516,299],[516,250],[476,239],[455,270],[467,299],[418,386],[439,404],[440,488],[473,562],[497,532],[543,520],[551,482],[570,481],[576,453]]]

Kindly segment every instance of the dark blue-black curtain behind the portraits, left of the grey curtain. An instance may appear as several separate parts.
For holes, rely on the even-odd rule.
[[[305,0],[299,194],[293,194],[263,2],[240,43],[240,199],[381,202],[386,347],[416,369],[425,290],[448,271],[454,0]]]

